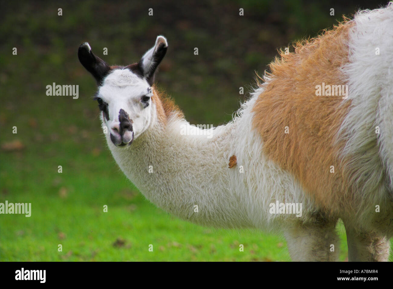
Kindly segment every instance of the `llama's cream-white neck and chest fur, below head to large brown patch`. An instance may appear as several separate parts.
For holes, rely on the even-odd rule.
[[[156,123],[158,127],[134,140],[132,150],[119,149],[108,135],[107,143],[125,175],[163,210],[199,225],[266,230],[276,217],[296,219],[270,214],[270,203],[304,203],[307,197],[290,174],[264,157],[260,136],[249,137],[245,128],[252,125],[252,103],[244,105],[241,117],[211,129],[209,137],[182,135],[189,123],[177,119],[165,130]],[[232,155],[237,156],[237,166],[229,169]],[[239,172],[240,166],[244,173]]]

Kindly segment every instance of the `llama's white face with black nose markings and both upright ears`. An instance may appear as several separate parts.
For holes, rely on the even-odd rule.
[[[79,46],[78,58],[98,85],[94,99],[101,110],[101,120],[108,127],[110,140],[118,147],[130,145],[149,127],[156,113],[152,109],[154,72],[167,51],[167,40],[158,36],[154,46],[138,63],[109,66],[95,56],[90,45]]]

